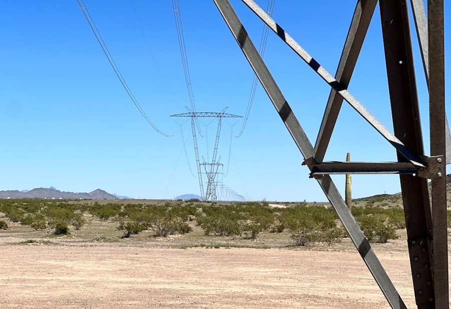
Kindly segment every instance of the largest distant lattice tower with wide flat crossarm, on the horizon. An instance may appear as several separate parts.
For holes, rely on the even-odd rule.
[[[238,116],[238,115],[233,115],[233,114],[225,114],[225,110],[227,109],[224,108],[221,112],[219,113],[210,113],[210,112],[206,112],[206,113],[198,113],[198,112],[188,112],[188,113],[183,113],[183,114],[175,114],[175,115],[171,115],[170,117],[191,117],[191,128],[192,128],[192,140],[194,143],[194,153],[196,156],[196,164],[197,164],[197,175],[199,178],[199,187],[200,187],[200,195],[202,196],[202,198],[205,201],[208,200],[212,200],[212,201],[216,201],[217,200],[217,195],[216,195],[216,186],[217,186],[217,181],[216,181],[216,176],[217,176],[217,171],[219,169],[219,166],[222,166],[221,163],[219,163],[219,159],[216,160],[216,155],[217,155],[217,146],[219,144],[219,136],[221,133],[221,119],[222,118],[242,118],[242,116]],[[198,117],[209,117],[209,118],[218,118],[218,123],[217,123],[217,130],[216,130],[216,141],[214,143],[214,149],[213,149],[213,157],[211,159],[211,162],[205,162],[205,159],[203,159],[203,162],[200,163],[199,160],[199,150],[197,147],[197,137],[196,137],[196,125],[195,125],[195,120]],[[207,177],[207,188],[206,188],[206,192],[204,194],[203,191],[203,181],[202,181],[202,170],[201,170],[201,166],[203,166],[204,170],[205,170],[205,174]]]

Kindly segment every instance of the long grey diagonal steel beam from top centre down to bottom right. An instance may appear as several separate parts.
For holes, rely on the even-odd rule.
[[[293,140],[304,156],[304,159],[313,157],[315,150],[307,138],[304,130],[296,119],[293,111],[274,81],[271,73],[260,57],[257,49],[249,38],[244,26],[240,22],[234,9],[228,0],[213,0],[225,23],[228,25],[235,39],[237,40],[244,55],[248,59],[255,74],[263,85],[269,98],[274,104],[279,116],[290,132]],[[390,278],[377,259],[362,230],[352,216],[349,208],[346,206],[343,198],[338,192],[330,176],[325,175],[317,179],[327,198],[333,205],[343,226],[348,231],[350,238],[365,261],[368,269],[381,288],[388,302],[393,308],[406,308],[404,302],[393,286]]]

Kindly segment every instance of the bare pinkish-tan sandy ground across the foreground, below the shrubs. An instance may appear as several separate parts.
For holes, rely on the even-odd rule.
[[[2,308],[389,308],[353,250],[3,240]],[[408,254],[401,246],[376,252],[413,308]]]

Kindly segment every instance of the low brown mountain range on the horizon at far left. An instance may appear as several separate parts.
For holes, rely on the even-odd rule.
[[[0,198],[50,198],[50,199],[123,199],[127,196],[110,194],[104,190],[97,189],[92,192],[65,192],[50,188],[35,188],[33,190],[6,190],[0,191]]]

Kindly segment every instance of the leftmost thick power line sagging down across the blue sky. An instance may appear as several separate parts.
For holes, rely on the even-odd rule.
[[[122,84],[122,87],[124,87],[125,91],[127,92],[128,96],[130,97],[130,99],[132,100],[133,104],[136,106],[136,108],[138,109],[138,111],[141,113],[141,115],[144,117],[144,119],[147,121],[147,123],[155,130],[157,131],[159,134],[168,137],[169,135],[163,133],[162,131],[160,131],[153,123],[152,121],[150,121],[149,117],[147,117],[146,113],[144,112],[144,110],[141,108],[141,106],[139,105],[138,101],[136,100],[135,96],[133,95],[133,93],[131,92],[130,88],[128,88],[127,83],[125,82],[125,79],[122,77],[121,72],[119,71],[119,68],[117,67],[116,63],[114,62],[113,57],[110,54],[110,51],[108,50],[105,42],[102,39],[102,36],[100,35],[99,30],[97,29],[96,24],[94,23],[94,20],[91,17],[91,14],[89,14],[88,9],[86,8],[86,5],[84,3],[83,0],[77,0],[78,5],[80,6],[80,9],[83,12],[83,15],[86,18],[86,21],[89,24],[89,27],[91,28],[92,32],[94,33],[94,36],[97,39],[97,42],[99,42],[100,47],[102,48],[103,53],[105,54],[105,56],[108,59],[108,62],[110,63],[111,67],[114,70],[114,73],[116,73],[116,76],[119,78],[119,81]]]

